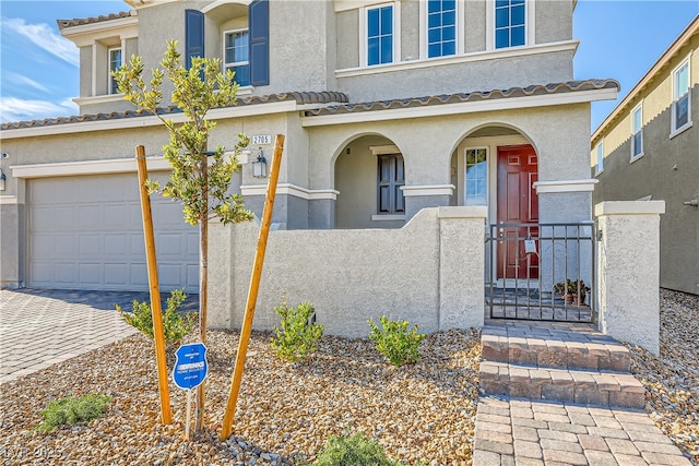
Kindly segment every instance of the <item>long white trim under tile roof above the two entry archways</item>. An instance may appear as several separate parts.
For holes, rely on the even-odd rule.
[[[479,111],[512,110],[517,108],[546,107],[550,105],[583,104],[595,100],[613,100],[616,88],[579,91],[537,96],[490,98],[459,104],[426,105],[390,110],[357,111],[339,115],[303,117],[301,126],[323,127],[330,124],[359,123],[369,121],[401,120],[405,118],[441,117],[448,115],[475,113]]]

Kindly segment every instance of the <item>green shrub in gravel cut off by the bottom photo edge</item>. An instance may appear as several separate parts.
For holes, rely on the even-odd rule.
[[[400,463],[386,456],[376,441],[357,432],[353,437],[332,435],[318,455],[318,466],[393,466]]]

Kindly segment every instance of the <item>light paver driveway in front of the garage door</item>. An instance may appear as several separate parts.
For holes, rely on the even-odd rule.
[[[131,309],[134,299],[149,294],[0,290],[0,383],[132,335],[115,304]]]

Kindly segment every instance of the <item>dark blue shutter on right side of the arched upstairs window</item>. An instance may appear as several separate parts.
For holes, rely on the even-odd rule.
[[[270,2],[254,0],[248,7],[250,26],[250,85],[270,84]]]

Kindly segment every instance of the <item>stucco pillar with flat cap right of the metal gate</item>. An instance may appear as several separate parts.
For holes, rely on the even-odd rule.
[[[660,215],[665,201],[595,205],[600,330],[660,354]]]

